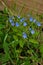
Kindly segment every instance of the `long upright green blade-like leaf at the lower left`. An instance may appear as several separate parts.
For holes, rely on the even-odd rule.
[[[8,34],[6,34],[5,38],[4,38],[4,43],[3,43],[3,49],[5,52],[5,57],[4,57],[4,61],[10,59],[10,54],[9,54],[9,46],[8,43],[6,42]]]

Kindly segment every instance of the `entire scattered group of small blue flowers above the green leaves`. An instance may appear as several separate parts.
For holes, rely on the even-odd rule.
[[[23,26],[27,26],[27,22],[25,22],[25,18],[21,18],[20,16],[17,16],[18,19],[20,19],[20,22],[23,22]],[[12,26],[16,26],[19,27],[20,24],[18,22],[14,22],[13,21],[14,17],[10,17],[9,18],[9,22],[11,23]],[[30,22],[34,22],[37,26],[41,26],[41,23],[36,21],[36,19],[30,17],[29,18]],[[32,28],[29,28],[29,31],[31,32],[31,34],[35,34],[35,30],[33,30]],[[27,38],[27,34],[25,32],[23,32],[23,38]]]

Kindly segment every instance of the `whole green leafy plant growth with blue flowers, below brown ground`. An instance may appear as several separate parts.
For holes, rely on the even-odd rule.
[[[40,21],[0,11],[0,65],[41,65]],[[43,64],[42,64],[43,65]]]

